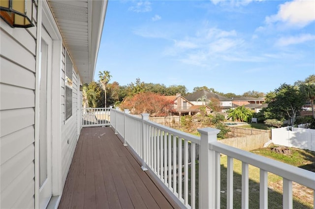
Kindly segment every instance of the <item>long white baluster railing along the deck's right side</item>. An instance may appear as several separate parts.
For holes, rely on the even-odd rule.
[[[227,156],[226,208],[233,208],[233,159],[242,161],[242,208],[249,208],[249,165],[260,169],[261,209],[268,208],[268,172],[284,179],[285,209],[293,207],[292,182],[315,190],[313,172],[221,144],[220,130],[199,129],[198,137],[151,122],[149,114],[140,118],[128,110],[111,109],[111,117],[115,133],[138,156],[142,169],[154,173],[183,208],[220,208],[221,154]]]

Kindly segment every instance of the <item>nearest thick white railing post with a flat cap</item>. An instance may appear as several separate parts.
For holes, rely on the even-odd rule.
[[[214,209],[216,207],[216,155],[209,150],[209,142],[217,141],[218,129],[197,129],[200,133],[199,157],[199,208]]]

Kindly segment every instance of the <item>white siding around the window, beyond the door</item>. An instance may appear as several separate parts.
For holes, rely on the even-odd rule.
[[[63,50],[63,64],[62,64],[62,183],[64,185],[74,150],[77,144],[77,76],[76,72],[72,70],[72,116],[66,121],[64,117],[64,54]]]

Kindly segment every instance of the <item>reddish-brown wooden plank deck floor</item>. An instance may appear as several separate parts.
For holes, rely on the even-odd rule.
[[[161,191],[111,128],[83,128],[59,209],[178,208]]]

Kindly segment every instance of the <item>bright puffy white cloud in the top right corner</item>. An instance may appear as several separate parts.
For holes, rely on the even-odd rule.
[[[315,21],[314,0],[293,0],[280,5],[276,15],[265,19],[267,24],[284,22],[289,26],[304,27]]]

